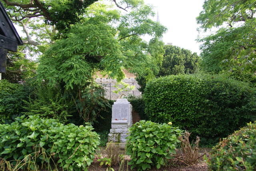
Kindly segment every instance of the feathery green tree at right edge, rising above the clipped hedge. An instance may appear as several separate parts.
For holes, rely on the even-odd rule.
[[[198,39],[204,42],[202,66],[210,72],[231,74],[256,72],[256,2],[255,0],[208,0],[197,17],[201,28],[220,28],[216,34]]]

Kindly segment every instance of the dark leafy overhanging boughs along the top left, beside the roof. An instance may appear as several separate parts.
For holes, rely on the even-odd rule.
[[[3,0],[16,21],[43,16],[45,22],[65,30],[80,21],[85,9],[97,0]]]

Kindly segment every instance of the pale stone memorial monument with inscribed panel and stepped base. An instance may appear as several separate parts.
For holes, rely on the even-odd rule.
[[[128,129],[132,126],[132,105],[127,99],[117,99],[112,105],[111,129],[108,142],[125,149]],[[108,145],[108,144],[107,144]]]

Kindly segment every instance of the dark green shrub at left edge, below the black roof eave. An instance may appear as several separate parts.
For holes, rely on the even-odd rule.
[[[0,123],[10,122],[18,117],[24,109],[24,101],[31,93],[31,87],[26,84],[14,84],[7,80],[0,80]]]

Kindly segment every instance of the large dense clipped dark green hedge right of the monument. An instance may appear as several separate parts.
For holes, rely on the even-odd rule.
[[[151,121],[172,121],[200,136],[201,145],[212,145],[256,119],[255,97],[255,88],[225,76],[167,76],[146,85],[145,113]]]

